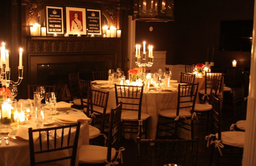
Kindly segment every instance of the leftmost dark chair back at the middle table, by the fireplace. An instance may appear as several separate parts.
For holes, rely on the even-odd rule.
[[[68,74],[69,91],[70,91],[72,101],[79,97],[78,80],[79,80],[79,72]]]

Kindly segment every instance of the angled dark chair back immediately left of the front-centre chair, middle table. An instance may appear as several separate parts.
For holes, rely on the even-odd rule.
[[[101,132],[103,132],[105,128],[108,128],[108,126],[105,126],[105,123],[108,122],[108,120],[105,119],[108,104],[108,95],[109,92],[103,92],[88,88],[86,114],[88,117],[91,117],[93,119],[92,125],[100,124]],[[101,111],[98,110],[98,108],[101,109]],[[92,116],[92,114],[95,114],[95,116]]]

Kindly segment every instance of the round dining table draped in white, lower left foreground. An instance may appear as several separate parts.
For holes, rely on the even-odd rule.
[[[66,111],[71,110],[72,108],[68,108],[68,109],[60,109],[58,110],[58,115],[60,114],[65,114]],[[84,114],[83,112],[76,110],[76,113],[79,114]],[[35,123],[36,118],[32,115],[31,119],[28,120],[28,127],[30,126],[30,124],[34,124]],[[46,119],[47,120],[47,119]],[[1,125],[1,124],[0,124]],[[62,124],[64,125],[64,124]],[[26,126],[26,123],[23,124],[23,127]],[[55,126],[60,126],[59,123],[57,123],[56,121],[52,124],[49,125],[44,125],[44,128],[47,127],[55,127]],[[27,126],[26,126],[27,127]],[[33,128],[34,129],[34,128]],[[65,130],[64,130],[65,131]],[[75,134],[76,132],[76,128],[71,128],[71,135]],[[57,130],[57,135],[61,135],[61,130]],[[6,135],[5,135],[6,136]],[[4,135],[2,135],[2,138],[4,137]],[[61,137],[57,137],[58,139],[60,139]],[[68,133],[64,134],[64,140],[68,138]],[[2,139],[2,144],[0,145],[0,165],[6,165],[6,166],[28,166],[30,165],[30,156],[29,156],[29,143],[28,140],[23,140],[23,139],[13,139],[9,137],[9,145],[5,144],[5,140]],[[43,143],[46,143],[46,135],[42,134],[42,140]],[[57,140],[58,141],[58,140]],[[72,142],[73,140],[71,139],[70,142]],[[54,139],[50,138],[50,147],[54,146]],[[71,143],[73,144],[73,143]],[[78,165],[78,161],[79,161],[79,150],[81,145],[88,145],[89,144],[89,124],[88,121],[83,121],[81,122],[81,127],[80,127],[80,132],[79,132],[79,140],[78,140],[78,148],[77,148],[77,154],[76,154],[76,165]],[[36,147],[36,145],[39,145],[39,139],[34,140],[34,145]],[[68,156],[72,154],[72,150],[67,150],[67,151],[59,151],[58,153],[44,153],[44,154],[39,154],[40,156],[36,156],[36,161],[37,159],[40,160],[41,159],[54,159],[55,157],[57,157],[58,155],[61,155],[63,157],[63,153],[64,155]],[[58,161],[58,162],[54,162],[56,164],[62,165],[62,166],[68,166],[70,165],[70,162],[68,162],[67,160],[63,160],[63,161]]]

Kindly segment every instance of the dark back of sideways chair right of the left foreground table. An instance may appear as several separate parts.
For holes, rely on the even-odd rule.
[[[118,150],[119,141],[121,136],[121,113],[122,113],[122,105],[120,102],[116,108],[111,109],[110,119],[109,119],[109,132],[108,132],[108,154],[107,160],[111,162],[111,148],[115,148]]]

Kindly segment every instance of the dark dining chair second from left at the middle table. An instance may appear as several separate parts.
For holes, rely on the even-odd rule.
[[[87,108],[87,97],[88,97],[88,89],[92,87],[91,81],[85,81],[82,79],[78,80],[78,89],[79,89],[79,99],[80,103],[77,102],[77,105],[81,105],[81,109]],[[85,111],[85,110],[84,110]]]

